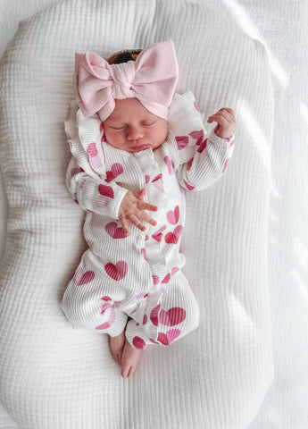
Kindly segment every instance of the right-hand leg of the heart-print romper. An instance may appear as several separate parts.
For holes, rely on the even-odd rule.
[[[171,278],[168,291],[161,293],[159,300],[151,302],[150,292],[148,301],[142,323],[132,319],[126,328],[126,338],[136,349],[146,349],[150,344],[169,346],[199,324],[195,295],[181,272]]]

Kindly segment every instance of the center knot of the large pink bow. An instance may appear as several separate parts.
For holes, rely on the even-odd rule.
[[[122,99],[131,97],[131,82],[135,77],[135,63],[110,64],[109,72],[113,80],[113,97]]]

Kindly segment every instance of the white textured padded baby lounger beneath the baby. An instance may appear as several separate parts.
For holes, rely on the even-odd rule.
[[[205,122],[222,106],[233,108],[236,145],[226,175],[187,195],[183,272],[200,325],[169,348],[146,349],[134,377],[123,380],[107,337],[73,329],[59,307],[86,249],[84,212],[65,187],[70,150],[63,122],[75,51],[106,57],[168,39],[179,61],[176,91],[193,91]],[[11,426],[246,428],[272,379],[273,108],[261,44],[204,4],[68,0],[21,23],[0,72],[0,159],[10,206],[0,274],[0,374]]]

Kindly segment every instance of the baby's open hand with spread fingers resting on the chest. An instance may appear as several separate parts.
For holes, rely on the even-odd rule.
[[[141,189],[135,194],[129,190],[123,198],[118,216],[125,235],[129,235],[129,222],[137,226],[141,231],[146,231],[146,227],[140,221],[156,225],[154,219],[145,210],[157,212],[157,207],[142,201],[145,195],[146,189]]]

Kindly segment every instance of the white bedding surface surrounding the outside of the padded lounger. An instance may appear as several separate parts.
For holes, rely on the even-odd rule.
[[[17,20],[52,2],[3,1],[1,48]],[[205,2],[203,2],[205,3]],[[256,417],[254,428],[300,429],[308,425],[305,366],[307,350],[308,232],[306,166],[308,129],[307,11],[300,1],[206,2],[262,40],[271,55],[275,89],[274,144],[271,158],[269,276],[276,378]],[[227,5],[226,5],[227,4]],[[31,9],[27,9],[27,8]],[[14,13],[10,13],[11,11]],[[287,22],[287,25],[286,25]],[[9,30],[8,30],[9,29]],[[6,198],[1,195],[0,245],[4,250]],[[0,253],[0,256],[2,255]],[[0,412],[1,429],[17,427]]]

